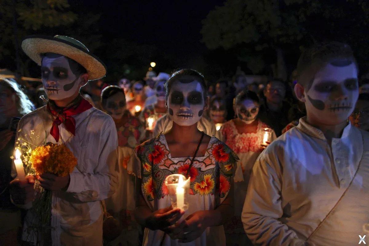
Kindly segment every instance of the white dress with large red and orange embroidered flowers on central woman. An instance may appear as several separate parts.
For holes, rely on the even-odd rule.
[[[172,158],[162,133],[135,148],[128,171],[142,180],[142,194],[152,211],[170,206],[165,178],[170,174],[186,175],[191,159]],[[195,158],[189,172],[189,208],[184,218],[199,210],[215,209],[224,201],[230,191],[237,162],[237,155],[227,145],[211,137],[206,154]],[[160,230],[146,228],[144,235],[143,245],[160,245],[163,237],[163,245],[181,245]],[[186,245],[225,245],[223,226],[207,228],[200,238]]]

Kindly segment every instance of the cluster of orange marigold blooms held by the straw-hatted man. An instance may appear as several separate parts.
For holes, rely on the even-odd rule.
[[[77,165],[77,158],[65,145],[52,144],[32,150],[30,162],[37,175],[52,173],[65,177]]]

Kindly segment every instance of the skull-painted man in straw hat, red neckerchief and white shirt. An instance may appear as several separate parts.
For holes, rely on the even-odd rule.
[[[33,231],[30,226],[38,218],[28,211],[23,240],[32,245],[102,245],[101,201],[114,194],[117,186],[117,131],[113,119],[79,92],[89,79],[105,76],[106,67],[81,42],[66,36],[30,36],[23,40],[22,49],[41,66],[49,101],[21,118],[16,138],[31,146],[44,141],[63,144],[77,159],[77,166],[65,177],[44,173],[28,176],[25,182],[17,179],[13,164],[14,204],[31,208],[31,194],[38,197],[40,186],[52,192],[52,229]],[[35,178],[39,186],[34,187]]]

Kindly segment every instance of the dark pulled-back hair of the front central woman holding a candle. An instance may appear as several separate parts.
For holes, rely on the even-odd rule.
[[[203,87],[204,100],[206,100],[207,86],[206,86],[204,76],[200,72],[197,72],[194,69],[181,69],[181,70],[178,70],[178,71],[172,73],[172,75],[170,76],[170,78],[168,79],[168,81],[165,83],[165,86],[164,86],[164,88],[165,88],[165,100],[168,100],[169,91],[172,88],[173,82],[175,82],[175,80],[178,80],[183,76],[192,76],[192,77],[195,77],[196,79],[198,79],[198,81],[201,84],[201,87]],[[193,80],[180,80],[181,83],[191,83],[192,81]]]

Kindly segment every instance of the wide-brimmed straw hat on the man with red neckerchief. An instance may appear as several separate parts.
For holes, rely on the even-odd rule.
[[[29,58],[40,66],[41,54],[56,53],[73,59],[85,67],[89,80],[100,79],[106,75],[105,64],[74,38],[61,35],[54,37],[32,35],[22,41],[22,49]]]

